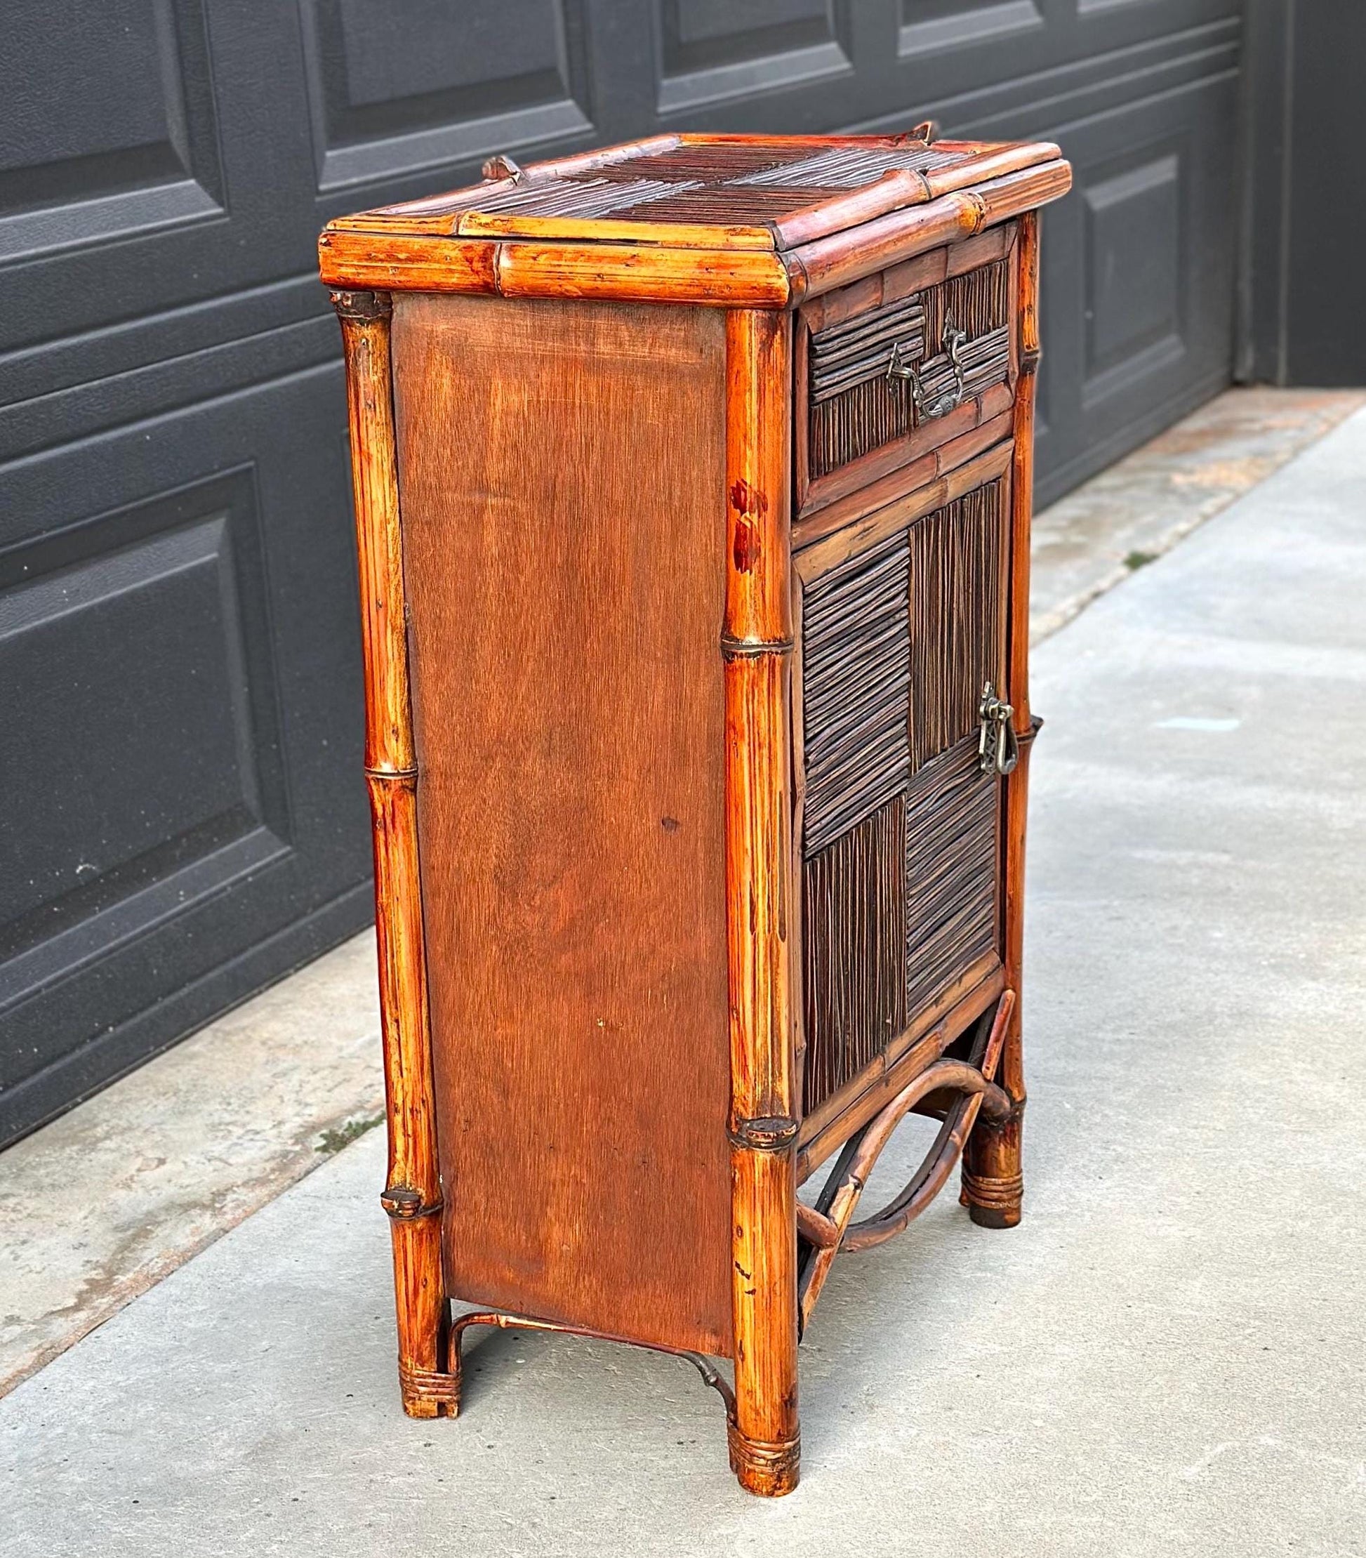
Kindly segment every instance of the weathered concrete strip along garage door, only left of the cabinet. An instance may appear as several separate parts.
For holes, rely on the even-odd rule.
[[[380,1119],[378,1033],[368,932],[0,1154],[0,1394]]]

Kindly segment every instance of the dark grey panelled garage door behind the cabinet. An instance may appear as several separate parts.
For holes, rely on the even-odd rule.
[[[1050,136],[1040,495],[1227,380],[1238,0],[9,0],[0,1139],[369,916],[329,217],[660,128]]]

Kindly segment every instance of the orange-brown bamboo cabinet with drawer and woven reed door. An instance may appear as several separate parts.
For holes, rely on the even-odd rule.
[[[1070,173],[928,126],[484,171],[319,245],[403,1407],[458,1412],[470,1326],[657,1348],[780,1494],[835,1257],[959,1158],[975,1221],[1020,1217],[1036,212]],[[869,1214],[908,1112],[938,1136]]]

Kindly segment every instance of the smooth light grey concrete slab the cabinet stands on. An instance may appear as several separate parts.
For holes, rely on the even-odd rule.
[[[403,1419],[372,1133],[0,1402],[0,1550],[1366,1552],[1363,483],[1366,413],[1040,648],[1026,1218],[836,1262],[791,1497],[629,1348]]]

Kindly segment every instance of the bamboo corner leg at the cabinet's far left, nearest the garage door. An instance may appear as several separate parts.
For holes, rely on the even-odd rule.
[[[380,1031],[389,1172],[380,1204],[394,1243],[399,1385],[411,1418],[455,1415],[442,1373],[447,1304],[441,1276],[441,1176],[431,1031],[417,877],[417,760],[408,696],[403,558],[386,293],[336,291],[360,564],[364,768],[374,821]]]

